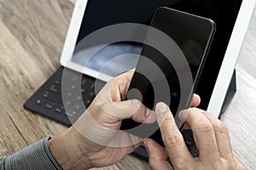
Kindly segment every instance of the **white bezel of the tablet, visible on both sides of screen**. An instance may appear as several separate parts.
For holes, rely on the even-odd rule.
[[[112,77],[104,75],[99,71],[94,71],[90,68],[86,68],[85,70],[82,65],[71,61],[87,3],[87,0],[77,0],[75,3],[72,19],[67,31],[66,41],[62,49],[61,65],[74,71],[83,71],[82,73],[89,75],[90,77],[97,77],[105,82],[108,82],[108,80],[110,80]],[[240,53],[241,45],[246,35],[249,21],[251,20],[251,16],[253,14],[255,3],[256,0],[243,0],[241,3],[241,8],[236,19],[236,24],[232,31],[230,42],[224,55],[224,60],[220,71],[218,72],[218,78],[213,88],[212,96],[207,107],[207,111],[211,112],[214,116],[218,117],[221,111],[225,94],[227,93],[231,77],[235,70],[235,65]]]

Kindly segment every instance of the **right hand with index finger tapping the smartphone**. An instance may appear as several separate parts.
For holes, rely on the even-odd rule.
[[[147,139],[144,144],[148,150],[148,162],[152,169],[246,169],[240,161],[233,156],[228,128],[223,122],[210,113],[198,109],[181,111],[179,117],[186,122],[186,127],[191,127],[199,156],[193,158],[182,134],[178,131],[169,108],[160,103],[155,109],[157,117],[166,115],[166,120],[161,124],[160,131],[166,149],[152,139]],[[159,118],[158,122],[159,122]],[[166,161],[170,157],[172,167]]]

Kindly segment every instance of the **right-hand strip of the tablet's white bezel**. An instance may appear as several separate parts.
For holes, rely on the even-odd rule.
[[[253,15],[255,3],[256,0],[243,0],[241,3],[241,8],[236,18],[236,24],[232,31],[230,42],[207,107],[207,111],[216,117],[220,114],[226,93],[230,87],[230,81],[235,71],[236,61],[240,54],[247,27]]]

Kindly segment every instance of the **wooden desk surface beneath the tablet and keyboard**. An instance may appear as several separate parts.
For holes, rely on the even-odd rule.
[[[0,1],[0,157],[67,127],[25,111],[23,104],[60,66],[74,0]],[[54,16],[54,17],[53,17]],[[237,93],[221,117],[235,155],[256,167],[256,9],[236,65]],[[134,156],[102,169],[148,169]]]

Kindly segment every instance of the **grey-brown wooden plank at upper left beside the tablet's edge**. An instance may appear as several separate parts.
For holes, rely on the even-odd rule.
[[[60,65],[73,3],[67,0],[10,0],[3,1],[1,6],[3,23],[49,77]]]

